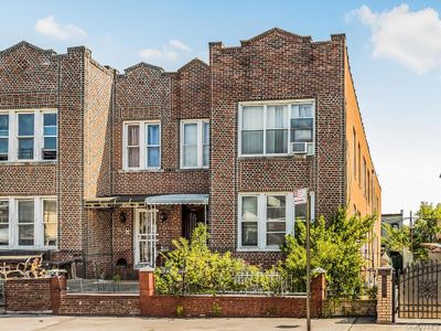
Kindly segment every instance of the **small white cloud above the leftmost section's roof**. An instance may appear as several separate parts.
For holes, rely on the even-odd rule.
[[[71,38],[80,38],[87,35],[86,31],[74,24],[58,23],[55,21],[53,15],[37,20],[35,23],[35,30],[42,34],[63,41]]]

